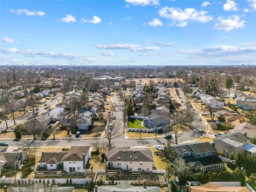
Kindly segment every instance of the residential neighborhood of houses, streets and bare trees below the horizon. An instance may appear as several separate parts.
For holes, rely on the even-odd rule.
[[[1,76],[0,181],[7,191],[21,190],[29,180],[36,184],[32,188],[48,183],[55,191],[75,192],[167,192],[186,185],[193,191],[186,182],[255,190],[256,77],[248,77],[251,86],[234,90],[239,84],[227,85],[232,75],[217,79],[214,69],[200,74],[212,75],[211,86],[204,86],[207,79],[193,81],[196,72],[188,68],[183,73],[191,78],[172,68],[168,76],[149,68],[146,78],[68,69],[76,74],[72,80],[62,68],[52,69],[59,74],[55,78],[35,76],[39,83],[7,86]],[[222,181],[222,174],[230,174],[226,186],[212,183]]]

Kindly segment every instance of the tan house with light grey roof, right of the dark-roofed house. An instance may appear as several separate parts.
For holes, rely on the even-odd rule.
[[[227,133],[222,137],[216,137],[213,139],[213,145],[218,153],[225,152],[226,156],[229,156],[231,152],[236,156],[238,152],[243,151],[243,146],[250,142],[250,138],[246,136],[246,133]]]

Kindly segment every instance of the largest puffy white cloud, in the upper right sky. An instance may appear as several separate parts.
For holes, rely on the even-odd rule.
[[[186,8],[181,10],[180,8],[163,7],[158,11],[158,14],[171,20],[170,26],[184,27],[188,22],[209,22],[212,20],[211,16],[207,16],[207,11],[197,11],[194,8]]]

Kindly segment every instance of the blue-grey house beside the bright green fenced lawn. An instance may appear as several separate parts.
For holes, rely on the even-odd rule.
[[[170,123],[169,116],[161,116],[156,114],[151,114],[148,118],[143,120],[143,124],[146,128],[154,128],[154,130],[159,130],[163,128],[164,124]]]

